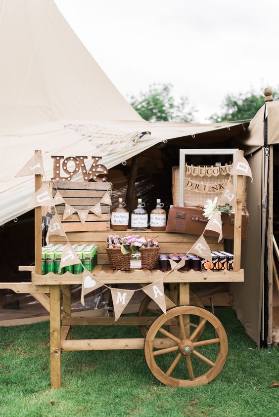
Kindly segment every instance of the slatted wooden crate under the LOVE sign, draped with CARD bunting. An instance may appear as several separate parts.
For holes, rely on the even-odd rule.
[[[52,195],[59,191],[66,203],[77,210],[88,210],[99,203],[101,198],[108,191],[111,196],[111,183],[108,182],[64,182],[55,181],[52,186]],[[89,213],[85,224],[80,222],[78,213],[74,213],[63,220],[65,204],[56,206],[58,216],[63,223],[65,232],[94,232],[97,230],[110,229],[110,206],[101,203],[101,217]],[[52,214],[55,213],[51,208]]]

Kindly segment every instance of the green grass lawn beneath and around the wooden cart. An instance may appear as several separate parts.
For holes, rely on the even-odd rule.
[[[211,383],[171,388],[142,350],[64,352],[62,388],[49,386],[48,322],[0,328],[0,416],[279,416],[279,350],[258,350],[230,308],[216,308],[229,356]],[[138,337],[136,327],[75,327],[73,338]]]

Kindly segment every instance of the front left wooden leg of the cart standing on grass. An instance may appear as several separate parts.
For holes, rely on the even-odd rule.
[[[61,312],[60,285],[51,285],[50,295],[50,383],[61,386]]]

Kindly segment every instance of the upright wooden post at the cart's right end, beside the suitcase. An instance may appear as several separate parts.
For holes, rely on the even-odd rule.
[[[240,151],[243,155],[243,151]],[[233,270],[239,271],[241,260],[241,222],[242,222],[242,193],[243,176],[236,177],[236,208],[234,215],[234,241],[233,241]]]

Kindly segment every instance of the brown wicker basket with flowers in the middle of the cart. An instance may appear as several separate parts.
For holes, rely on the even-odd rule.
[[[123,255],[121,249],[106,248],[106,253],[112,269],[130,271],[131,253]],[[141,253],[141,269],[154,269],[158,259],[159,248],[143,248]]]

